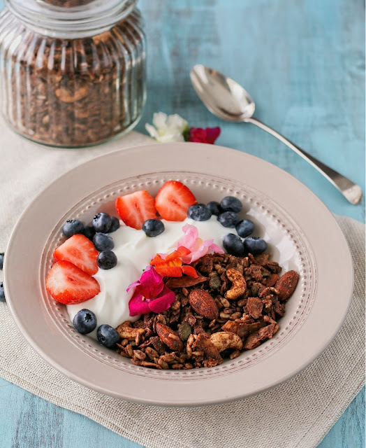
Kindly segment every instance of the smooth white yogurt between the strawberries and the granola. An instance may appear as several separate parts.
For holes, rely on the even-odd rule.
[[[143,230],[136,230],[122,225],[110,234],[115,242],[113,252],[117,255],[117,266],[112,269],[98,269],[94,277],[101,286],[101,292],[86,302],[67,305],[68,316],[71,321],[80,309],[87,308],[94,312],[97,327],[108,323],[117,327],[124,321],[137,321],[139,316],[129,315],[129,300],[133,291],[126,289],[140,279],[145,269],[156,253],[168,253],[177,247],[178,240],[184,235],[184,224],[192,224],[198,228],[201,239],[214,239],[214,243],[222,247],[222,237],[233,229],[225,228],[212,216],[209,221],[193,221],[186,218],[184,222],[163,221],[165,230],[157,237],[147,237]],[[96,339],[96,330],[89,333]]]

